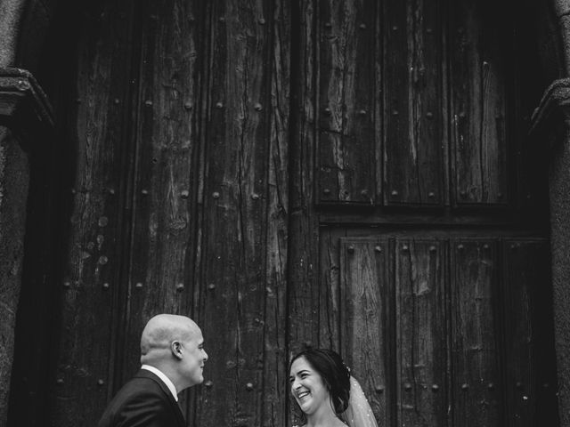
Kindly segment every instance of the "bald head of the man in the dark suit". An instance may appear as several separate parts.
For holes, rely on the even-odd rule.
[[[159,368],[177,392],[204,381],[206,360],[202,331],[191,318],[159,314],[144,326],[141,363]]]

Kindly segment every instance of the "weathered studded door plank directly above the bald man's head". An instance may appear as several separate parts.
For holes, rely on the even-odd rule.
[[[135,95],[132,240],[128,269],[126,381],[138,367],[146,321],[159,312],[193,315],[193,225],[198,174],[192,157],[196,134],[196,58],[203,56],[198,29],[185,17],[199,15],[178,0],[140,2],[142,13],[139,85]],[[184,17],[184,18],[183,18]],[[198,52],[197,52],[198,50]]]

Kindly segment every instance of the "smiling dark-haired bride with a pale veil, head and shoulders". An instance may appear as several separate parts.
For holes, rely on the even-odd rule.
[[[298,353],[289,364],[289,383],[294,407],[300,410],[305,427],[377,425],[360,384],[334,351],[309,349]]]

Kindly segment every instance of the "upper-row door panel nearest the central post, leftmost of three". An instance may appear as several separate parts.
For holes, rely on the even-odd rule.
[[[319,16],[318,200],[374,203],[376,2],[328,0]]]

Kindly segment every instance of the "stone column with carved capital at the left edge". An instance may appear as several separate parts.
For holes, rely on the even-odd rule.
[[[0,68],[0,425],[7,418],[22,283],[29,156],[52,133],[52,109],[34,77]]]

